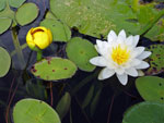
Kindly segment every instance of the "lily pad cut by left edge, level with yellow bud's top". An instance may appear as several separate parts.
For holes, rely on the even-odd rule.
[[[12,20],[9,17],[0,17],[0,34],[8,30],[8,28],[11,26]]]

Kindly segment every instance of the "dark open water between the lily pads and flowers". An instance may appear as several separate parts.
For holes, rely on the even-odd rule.
[[[34,2],[39,7],[39,16],[35,22],[33,22],[30,25],[26,26],[17,26],[17,33],[19,33],[19,39],[20,44],[25,44],[25,36],[27,30],[31,27],[35,27],[39,25],[39,22],[44,17],[45,11],[48,9],[49,3],[47,0],[27,0],[27,2]],[[95,42],[95,38],[90,36],[84,36],[75,30],[72,29],[72,37],[73,36],[80,36],[82,38],[86,38],[91,40],[92,42]],[[141,45],[149,46],[150,40],[142,38],[144,41],[141,41]],[[147,41],[145,41],[147,40]],[[60,53],[57,52],[60,48],[63,47],[65,44],[58,42],[52,44],[51,46],[56,49],[54,52],[50,52],[50,49],[46,49],[44,51],[44,56],[58,56],[66,58],[65,51],[61,51]],[[12,42],[11,37],[11,30],[5,32],[3,35],[0,36],[0,46],[7,48],[9,52],[12,52],[14,50],[14,46]],[[43,95],[36,94],[34,95],[34,90],[32,89],[33,86],[36,87],[36,79],[33,75],[28,73],[30,66],[35,63],[35,52],[31,52],[28,48],[25,48],[23,50],[25,62],[28,61],[28,67],[27,67],[27,74],[33,78],[32,83],[30,85],[25,84],[23,75],[26,73],[20,67],[20,61],[17,60],[16,56],[12,57],[12,66],[10,69],[10,72],[4,77],[0,78],[0,123],[5,123],[5,110],[7,107],[10,106],[10,112],[9,115],[12,119],[12,108],[16,101],[23,98],[37,98],[45,100],[46,102],[50,103],[50,96],[48,96],[47,99]],[[31,59],[28,59],[31,56]],[[96,71],[99,71],[98,67]],[[83,78],[86,78],[89,76],[92,76],[93,73],[85,73],[82,71],[78,71],[77,74],[71,79],[66,79],[62,82],[54,83],[52,91],[54,91],[54,108],[56,107],[59,98],[63,95],[65,91],[72,91],[72,88],[77,86],[78,83],[80,83]],[[46,86],[47,84],[43,82]],[[10,89],[11,85],[13,84],[12,88]],[[66,85],[66,88],[60,94],[59,89],[61,86]],[[69,86],[68,86],[69,85]],[[81,108],[81,103],[89,91],[89,88],[94,85],[95,91],[94,94],[102,88],[99,94],[99,99],[97,101],[97,106],[94,110],[94,113],[91,112],[91,103],[85,108]],[[30,88],[30,91],[26,91],[26,88]],[[14,94],[15,90],[15,94]],[[11,96],[9,97],[9,93],[11,91]],[[47,89],[49,94],[49,89]],[[95,96],[94,95],[94,96]],[[13,98],[12,98],[13,96]],[[131,107],[132,104],[142,101],[141,97],[139,96],[136,87],[134,87],[134,78],[129,77],[128,86],[121,86],[116,76],[113,76],[109,79],[98,82],[96,77],[93,77],[87,84],[85,84],[79,91],[71,95],[72,101],[71,101],[71,113],[68,112],[68,114],[63,118],[62,123],[70,123],[70,114],[72,115],[72,123],[107,123],[109,107],[112,106],[110,110],[110,122],[109,123],[121,123],[122,116],[125,111]],[[11,103],[10,103],[11,101]],[[113,103],[113,104],[112,104]]]

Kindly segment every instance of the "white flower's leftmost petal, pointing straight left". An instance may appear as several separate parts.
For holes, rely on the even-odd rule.
[[[106,66],[107,61],[103,57],[95,57],[90,60],[90,63],[97,66]]]

